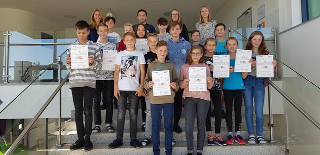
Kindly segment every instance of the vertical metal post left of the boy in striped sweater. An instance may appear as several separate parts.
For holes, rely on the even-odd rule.
[[[62,67],[62,61],[61,61],[61,56],[58,56],[57,60],[58,64],[58,83],[61,83],[61,67]],[[59,89],[59,117],[58,117],[58,137],[56,139],[56,147],[60,148],[61,147],[61,88]]]

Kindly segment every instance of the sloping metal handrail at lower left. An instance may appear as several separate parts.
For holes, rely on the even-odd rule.
[[[61,83],[56,87],[56,89],[53,91],[53,93],[50,95],[50,97],[45,101],[41,109],[35,114],[35,116],[32,118],[32,120],[27,124],[27,126],[23,129],[21,134],[16,138],[16,140],[13,142],[11,147],[5,152],[4,155],[11,155],[14,151],[14,149],[18,146],[18,144],[22,141],[24,136],[29,132],[32,125],[35,123],[35,121],[40,117],[40,115],[43,113],[45,108],[50,104],[52,99],[55,97],[55,95],[60,91],[61,87],[64,85],[64,83],[69,78],[70,73],[65,76],[65,78],[61,81]]]

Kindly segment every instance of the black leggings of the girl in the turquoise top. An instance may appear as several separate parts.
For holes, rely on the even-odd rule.
[[[234,102],[234,126],[235,132],[241,131],[241,105],[243,89],[226,90],[223,89],[225,103],[225,122],[228,132],[232,132],[232,101]]]

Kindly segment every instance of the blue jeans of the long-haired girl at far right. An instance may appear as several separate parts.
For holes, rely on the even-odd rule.
[[[248,134],[254,135],[253,127],[253,100],[256,123],[256,136],[262,136],[263,133],[263,104],[264,104],[264,78],[257,78],[248,75],[243,80],[245,89],[243,92],[245,106],[245,122],[248,128]]]

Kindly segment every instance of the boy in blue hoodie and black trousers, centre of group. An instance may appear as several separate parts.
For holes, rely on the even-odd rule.
[[[174,64],[176,68],[176,74],[180,74],[180,68],[186,62],[186,55],[191,47],[190,43],[184,40],[183,37],[179,37],[182,27],[181,24],[173,21],[169,25],[169,32],[172,38],[167,41],[168,58]],[[181,133],[182,129],[179,126],[179,120],[182,111],[182,92],[183,89],[178,89],[174,96],[174,123],[173,130],[175,133]],[[173,143],[172,143],[173,144]]]

